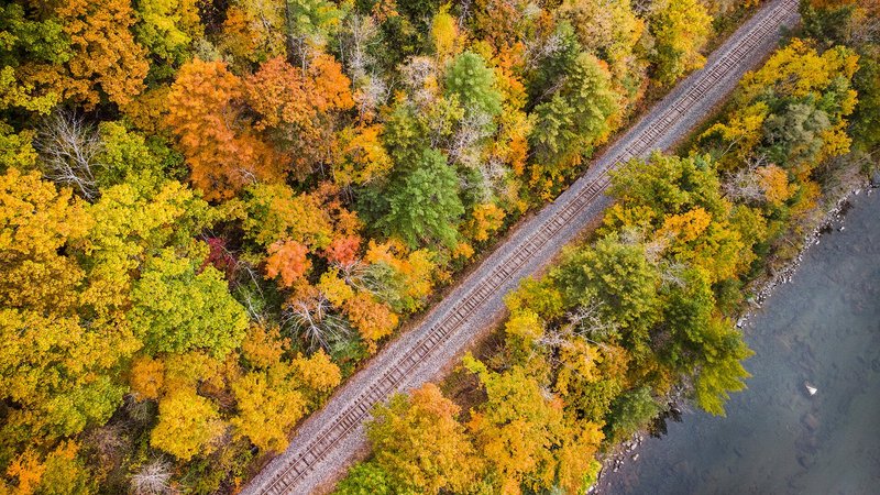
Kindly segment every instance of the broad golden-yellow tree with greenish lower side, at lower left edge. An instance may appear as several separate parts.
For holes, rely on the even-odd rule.
[[[122,361],[140,346],[124,321],[114,323],[0,309],[0,395],[13,404],[0,449],[51,446],[110,418],[127,388],[119,382]]]

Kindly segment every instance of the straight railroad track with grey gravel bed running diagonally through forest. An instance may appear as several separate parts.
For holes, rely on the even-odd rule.
[[[363,422],[373,405],[436,374],[504,311],[503,295],[549,263],[583,226],[610,204],[608,172],[664,150],[685,136],[777,45],[782,26],[798,21],[798,0],[774,0],[715,51],[706,66],[682,81],[638,124],[592,164],[553,204],[517,228],[425,320],[392,342],[356,373],[323,409],[297,430],[242,494],[307,494],[348,465],[363,447]]]

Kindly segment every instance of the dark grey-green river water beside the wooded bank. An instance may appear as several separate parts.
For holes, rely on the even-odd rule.
[[[602,493],[880,494],[880,189],[853,199],[745,331],[752,377],[727,417],[669,424]]]

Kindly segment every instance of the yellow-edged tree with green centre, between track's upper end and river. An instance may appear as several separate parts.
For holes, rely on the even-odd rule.
[[[794,40],[744,77],[734,97],[740,110],[711,128],[701,144],[716,146],[716,153],[733,151],[734,160],[722,157],[725,168],[770,160],[793,176],[805,176],[850,147],[844,128],[857,106],[857,68],[858,55],[846,47],[820,54]]]

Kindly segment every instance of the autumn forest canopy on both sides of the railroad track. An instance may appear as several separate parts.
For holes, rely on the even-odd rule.
[[[2,2],[0,494],[235,493],[755,3]],[[723,410],[738,288],[880,140],[878,6],[802,12],[693,156],[627,165],[601,239],[508,297],[484,405],[392,399],[340,486],[575,492],[682,377]]]

